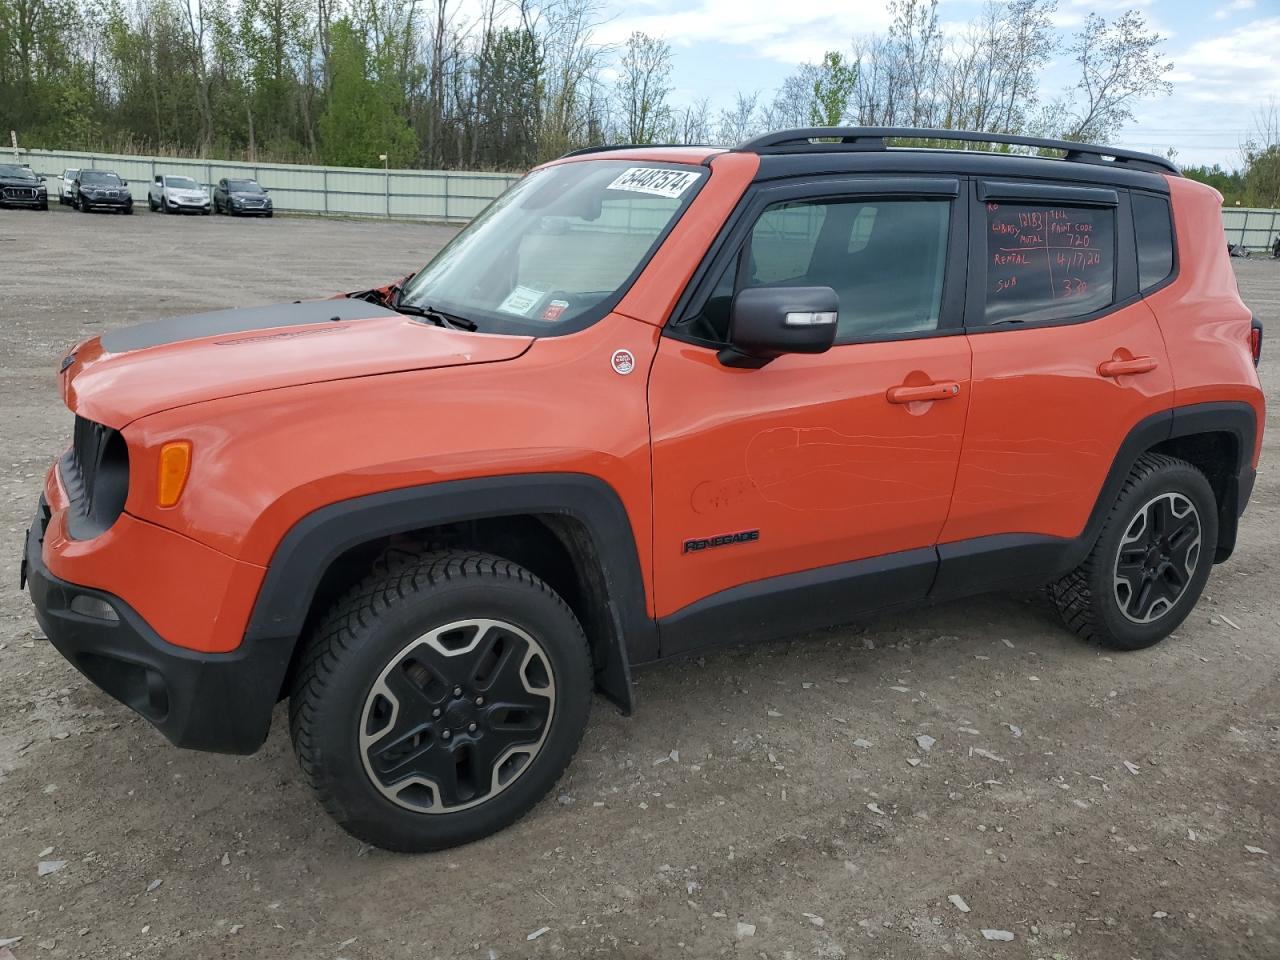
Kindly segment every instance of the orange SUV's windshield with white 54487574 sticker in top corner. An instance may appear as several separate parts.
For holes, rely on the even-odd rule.
[[[705,175],[622,160],[535,170],[436,253],[399,302],[490,333],[582,329],[613,308]]]

